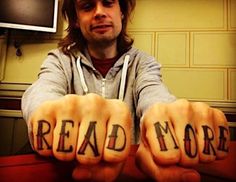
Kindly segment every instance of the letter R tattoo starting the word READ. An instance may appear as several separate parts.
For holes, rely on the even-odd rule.
[[[43,132],[43,125],[48,126],[48,130]],[[39,120],[38,121],[38,132],[37,132],[37,149],[43,150],[43,141],[47,146],[47,149],[52,149],[52,146],[50,146],[45,138],[44,135],[48,134],[51,130],[51,125],[48,121],[45,120]]]

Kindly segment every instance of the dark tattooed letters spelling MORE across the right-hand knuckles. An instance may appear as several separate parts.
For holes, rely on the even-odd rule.
[[[168,125],[168,121],[165,121],[164,123],[157,121],[154,123],[155,133],[157,142],[160,147],[161,152],[166,152],[170,150],[170,147],[168,148],[166,145],[166,137],[171,136],[172,139],[172,146],[171,149],[179,149],[178,143],[174,137],[174,134],[172,133],[172,130],[170,129]],[[203,147],[203,154],[206,155],[216,155],[216,149],[213,145],[213,141],[215,140],[215,135],[211,127],[208,125],[202,125],[203,135],[204,135],[204,147]],[[228,152],[227,147],[227,135],[229,133],[228,129],[224,126],[219,126],[219,144],[217,146],[218,151]],[[189,158],[195,158],[198,153],[198,146],[197,146],[197,138],[195,134],[195,130],[190,124],[186,124],[184,128],[184,150],[185,154]]]

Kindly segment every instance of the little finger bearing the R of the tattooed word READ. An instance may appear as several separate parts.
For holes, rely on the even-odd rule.
[[[32,143],[36,152],[43,156],[52,156],[53,129],[55,127],[54,101],[44,102],[33,113],[30,123],[32,126]]]

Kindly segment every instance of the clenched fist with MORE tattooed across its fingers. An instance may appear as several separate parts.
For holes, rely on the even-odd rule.
[[[228,143],[229,128],[220,110],[180,99],[145,112],[136,162],[157,181],[199,181],[195,170],[184,167],[225,158]]]

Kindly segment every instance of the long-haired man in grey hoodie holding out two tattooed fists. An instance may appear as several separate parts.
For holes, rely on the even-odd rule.
[[[34,150],[77,160],[77,180],[114,181],[131,143],[157,181],[199,181],[186,167],[226,157],[224,114],[171,95],[160,65],[126,33],[135,0],[64,0],[68,35],[22,100]],[[124,101],[124,102],[123,102]],[[140,135],[139,135],[140,131]]]

